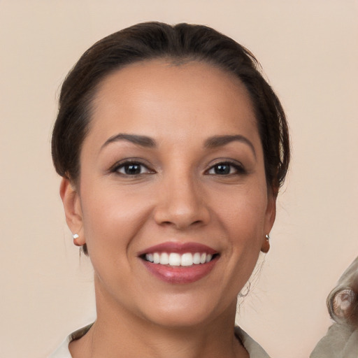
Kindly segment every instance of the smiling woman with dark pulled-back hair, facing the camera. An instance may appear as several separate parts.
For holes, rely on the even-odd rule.
[[[97,318],[52,357],[268,357],[234,329],[289,162],[258,68],[213,29],[150,22],[69,73],[52,157]]]

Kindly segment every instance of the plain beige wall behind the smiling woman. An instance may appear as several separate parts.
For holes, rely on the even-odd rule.
[[[353,0],[0,0],[0,357],[46,357],[94,318],[92,272],[66,228],[50,131],[76,59],[145,20],[232,36],[282,99],[292,170],[239,322],[273,357],[308,357],[330,324],[326,296],[358,255],[357,17]]]

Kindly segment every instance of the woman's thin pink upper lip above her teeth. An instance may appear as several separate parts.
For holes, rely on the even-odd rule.
[[[211,255],[218,253],[217,250],[201,243],[180,243],[178,241],[168,241],[166,243],[159,243],[158,245],[150,246],[150,248],[141,250],[138,252],[138,256],[153,252],[176,252],[178,254],[185,254],[187,252],[191,252],[192,254],[195,252],[206,252]]]

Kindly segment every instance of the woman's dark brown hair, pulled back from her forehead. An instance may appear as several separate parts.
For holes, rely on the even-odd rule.
[[[289,165],[288,126],[280,101],[250,51],[214,29],[196,24],[136,24],[101,39],[80,57],[59,96],[52,132],[52,160],[57,173],[74,183],[80,176],[80,150],[101,80],[123,66],[150,59],[174,64],[206,62],[241,80],[255,108],[266,181],[277,194]]]

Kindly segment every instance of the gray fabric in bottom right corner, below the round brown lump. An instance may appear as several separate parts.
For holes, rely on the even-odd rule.
[[[358,358],[358,329],[333,324],[317,343],[310,358]]]

